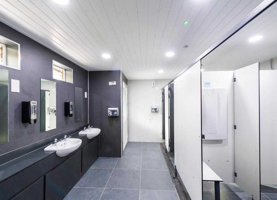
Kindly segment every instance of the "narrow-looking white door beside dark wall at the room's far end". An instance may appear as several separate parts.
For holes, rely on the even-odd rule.
[[[128,90],[123,82],[122,86],[122,115],[123,115],[123,151],[128,142]]]

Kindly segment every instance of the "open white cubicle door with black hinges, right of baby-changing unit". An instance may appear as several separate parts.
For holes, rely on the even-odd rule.
[[[235,183],[260,199],[259,63],[234,71]]]

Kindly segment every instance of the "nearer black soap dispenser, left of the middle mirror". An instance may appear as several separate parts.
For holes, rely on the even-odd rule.
[[[37,101],[22,101],[22,123],[37,123]]]

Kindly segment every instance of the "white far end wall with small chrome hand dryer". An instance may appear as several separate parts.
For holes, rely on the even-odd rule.
[[[152,88],[152,82],[156,88]],[[161,142],[161,88],[170,80],[128,80],[128,141]],[[159,106],[159,113],[151,113]]]

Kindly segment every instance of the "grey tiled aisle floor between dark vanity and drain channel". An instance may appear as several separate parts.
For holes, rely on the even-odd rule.
[[[66,200],[179,200],[159,143],[128,142],[122,158],[98,158]]]

